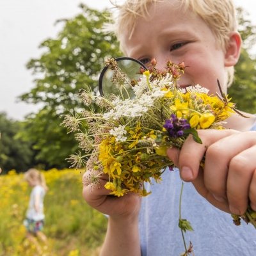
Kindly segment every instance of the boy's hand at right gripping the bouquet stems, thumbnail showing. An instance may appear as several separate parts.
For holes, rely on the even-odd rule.
[[[181,150],[168,149],[180,177],[223,211],[244,214],[248,200],[256,211],[256,132],[200,130],[198,135],[202,144],[189,136]]]

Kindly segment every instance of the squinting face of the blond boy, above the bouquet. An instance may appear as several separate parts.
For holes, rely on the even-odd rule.
[[[128,33],[121,38],[127,56],[143,63],[156,58],[159,69],[164,69],[167,60],[184,61],[188,67],[178,82],[182,88],[200,84],[215,93],[219,79],[227,90],[225,53],[202,19],[175,8],[175,0],[150,6],[149,17],[138,19],[131,39]]]

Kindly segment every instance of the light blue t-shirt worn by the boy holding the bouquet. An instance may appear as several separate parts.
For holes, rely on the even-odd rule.
[[[256,130],[256,126],[253,127]],[[147,184],[152,193],[142,199],[140,239],[143,256],[179,256],[184,244],[179,220],[181,180],[179,171],[166,172],[161,184]],[[195,256],[256,255],[256,229],[241,221],[233,223],[230,214],[220,211],[200,196],[191,183],[184,182],[182,218],[190,221],[194,231],[185,239],[193,244]]]

